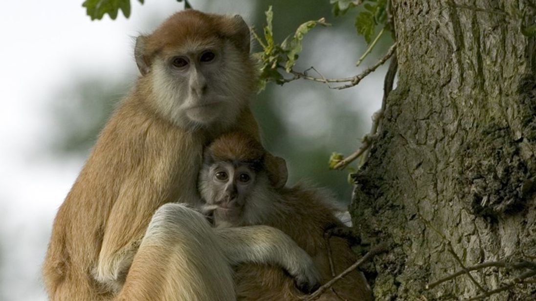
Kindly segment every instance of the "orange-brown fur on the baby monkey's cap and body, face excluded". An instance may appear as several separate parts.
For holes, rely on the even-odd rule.
[[[264,171],[260,171],[260,173],[265,172],[268,177],[270,174],[280,173],[281,170],[275,166],[277,164],[271,160],[272,157],[259,142],[247,134],[239,132],[227,133],[216,139],[205,151],[205,156],[206,158],[211,156],[215,161],[228,161],[234,162],[234,164],[259,160],[264,164]],[[286,178],[286,175],[282,176]],[[203,183],[206,181],[206,178],[203,177],[207,176],[203,175],[202,172],[201,177],[201,191],[202,194],[205,194],[204,189],[208,189],[209,185]],[[255,187],[255,189],[262,188]],[[259,194],[265,195],[260,197]],[[203,195],[203,197],[208,198],[207,195],[209,194]],[[333,276],[324,232],[333,227],[344,227],[334,215],[336,209],[329,201],[331,201],[331,197],[325,191],[311,189],[301,184],[292,188],[267,187],[267,190],[261,190],[256,194],[252,192],[246,203],[270,202],[270,204],[257,207],[245,205],[242,208],[244,211],[242,220],[233,225],[265,224],[282,230],[311,255],[322,274],[323,283],[325,283]],[[207,204],[212,205],[210,201]],[[259,208],[263,208],[263,212],[254,213],[255,217],[253,218],[256,222],[248,221],[247,217],[244,217],[245,211],[259,210]],[[215,223],[218,225],[217,220]],[[343,272],[356,261],[356,255],[346,240],[332,237],[330,238],[330,246],[336,274]],[[304,296],[295,288],[291,277],[285,274],[281,268],[275,266],[241,265],[236,269],[235,280],[239,300],[300,300]],[[332,288],[338,296],[327,290],[319,300],[339,300],[342,298],[342,300],[369,301],[373,299],[366,280],[356,270],[339,280]]]

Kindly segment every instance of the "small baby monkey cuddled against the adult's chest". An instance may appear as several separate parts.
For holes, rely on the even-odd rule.
[[[324,232],[344,225],[334,215],[328,193],[296,185],[285,187],[286,163],[267,153],[247,134],[231,132],[206,148],[199,176],[204,212],[215,227],[270,225],[289,235],[315,262],[322,283],[332,279]],[[346,240],[331,237],[333,269],[340,273],[356,258]],[[238,300],[299,300],[292,277],[277,266],[245,264],[235,274]],[[320,300],[372,300],[369,285],[359,271],[348,274]]]

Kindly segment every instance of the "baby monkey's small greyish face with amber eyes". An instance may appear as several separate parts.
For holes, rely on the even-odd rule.
[[[247,210],[246,201],[256,186],[256,174],[247,165],[217,162],[204,168],[200,192],[217,225],[239,225]]]

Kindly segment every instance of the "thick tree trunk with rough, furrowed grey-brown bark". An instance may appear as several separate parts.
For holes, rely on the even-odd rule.
[[[536,42],[522,34],[536,6],[527,1],[391,1],[398,84],[351,208],[364,241],[392,242],[374,261],[377,300],[471,298],[527,269],[425,287],[483,262],[536,261]],[[535,295],[536,284],[518,284],[488,300]]]

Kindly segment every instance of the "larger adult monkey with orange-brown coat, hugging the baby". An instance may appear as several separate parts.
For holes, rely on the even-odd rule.
[[[258,139],[247,102],[255,81],[249,41],[239,16],[194,10],[137,38],[142,76],[54,220],[43,265],[50,299],[234,300],[229,264],[241,260],[280,264],[299,284],[316,284],[310,258],[279,230],[214,233],[199,214],[168,204],[199,205],[203,146],[214,137],[239,130]],[[277,251],[267,242],[285,245]],[[284,247],[292,258],[281,257]]]

